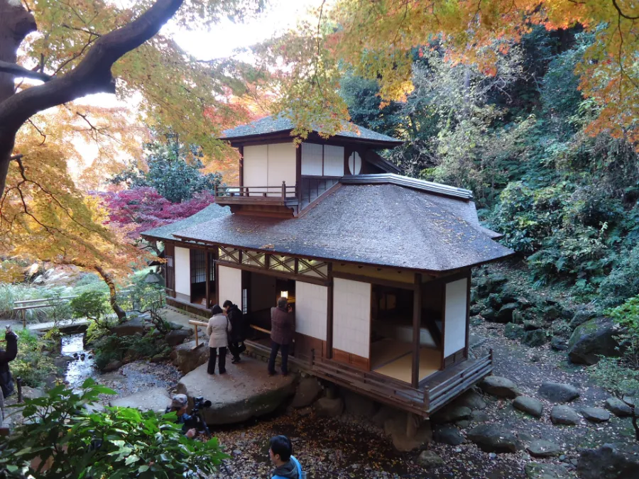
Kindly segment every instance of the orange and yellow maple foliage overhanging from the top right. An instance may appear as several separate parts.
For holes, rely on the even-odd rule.
[[[638,143],[638,21],[630,0],[337,0],[257,51],[297,131],[332,133],[347,116],[339,95],[346,70],[378,82],[384,106],[413,91],[416,48],[445,50],[452,64],[496,75],[498,57],[535,26],[579,27],[595,38],[577,65],[581,93],[601,109],[590,132]]]

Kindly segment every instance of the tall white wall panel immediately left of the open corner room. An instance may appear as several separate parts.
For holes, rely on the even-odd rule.
[[[333,280],[333,347],[368,358],[371,342],[371,285]]]

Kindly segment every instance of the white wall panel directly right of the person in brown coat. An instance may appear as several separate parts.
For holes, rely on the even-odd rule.
[[[326,341],[328,288],[295,282],[295,331]]]

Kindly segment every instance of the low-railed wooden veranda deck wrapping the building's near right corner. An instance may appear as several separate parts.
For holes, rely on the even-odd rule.
[[[246,345],[254,353],[268,356],[268,346],[252,341]],[[493,370],[492,351],[482,358],[467,359],[420,382],[419,389],[408,382],[363,371],[351,365],[324,358],[289,358],[289,363],[300,370],[346,389],[366,395],[373,400],[428,417],[462,392],[481,381]]]

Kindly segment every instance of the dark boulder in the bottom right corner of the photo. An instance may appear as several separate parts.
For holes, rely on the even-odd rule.
[[[639,446],[636,444],[603,444],[586,449],[579,456],[577,473],[581,479],[639,478]]]

